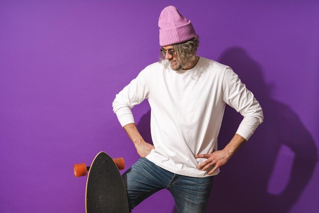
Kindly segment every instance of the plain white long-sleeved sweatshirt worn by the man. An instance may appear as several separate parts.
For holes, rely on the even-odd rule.
[[[232,69],[202,57],[183,73],[159,62],[142,70],[113,102],[122,126],[134,123],[130,109],[144,99],[151,107],[155,147],[146,158],[180,175],[208,176],[196,168],[206,159],[194,156],[217,150],[226,103],[244,116],[236,133],[246,140],[263,121],[258,101]]]

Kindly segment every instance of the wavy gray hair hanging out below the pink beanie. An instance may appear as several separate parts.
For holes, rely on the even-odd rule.
[[[189,61],[195,60],[196,52],[199,47],[199,36],[196,35],[194,38],[177,44],[174,46],[176,61],[179,63],[181,68],[185,68]],[[165,61],[165,56],[161,54],[161,62]]]

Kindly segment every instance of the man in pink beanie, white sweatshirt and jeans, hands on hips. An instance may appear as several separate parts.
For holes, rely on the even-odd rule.
[[[130,210],[168,189],[178,212],[204,212],[212,186],[230,157],[263,121],[258,101],[228,66],[196,55],[191,21],[166,7],[158,21],[162,61],[147,66],[113,102],[113,110],[139,161],[123,174]],[[143,140],[130,109],[148,99],[154,145]],[[217,149],[225,104],[244,119],[232,140]]]

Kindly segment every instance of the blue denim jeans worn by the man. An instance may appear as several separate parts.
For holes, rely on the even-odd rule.
[[[140,158],[123,175],[129,212],[143,200],[162,189],[171,192],[179,213],[205,212],[212,178],[174,174]]]

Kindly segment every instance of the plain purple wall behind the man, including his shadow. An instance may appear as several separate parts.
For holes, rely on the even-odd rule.
[[[317,212],[318,1],[1,1],[0,208],[84,212],[72,165],[101,150],[138,155],[112,111],[115,94],[158,60],[157,20],[175,5],[198,54],[230,65],[265,120],[214,180],[207,212]],[[134,108],[149,136],[149,105]],[[226,109],[219,147],[241,116]],[[176,212],[162,191],[135,212]]]

